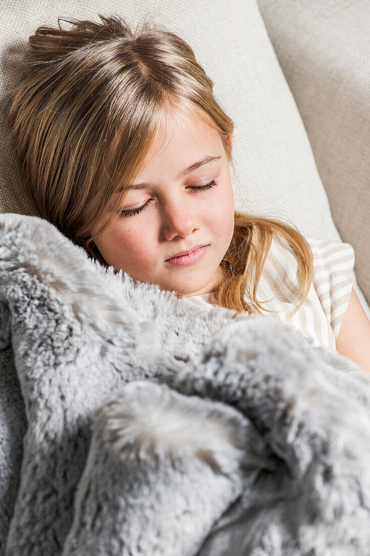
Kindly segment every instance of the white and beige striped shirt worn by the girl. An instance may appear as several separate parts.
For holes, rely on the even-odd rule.
[[[298,261],[285,239],[273,236],[257,288],[262,316],[294,327],[313,339],[316,346],[336,349],[336,339],[352,291],[354,250],[352,245],[331,240],[306,238],[313,254],[313,279],[307,299],[291,316],[297,302],[292,287],[297,286]],[[209,294],[189,297],[197,304],[212,307]],[[247,294],[245,299],[247,300]]]

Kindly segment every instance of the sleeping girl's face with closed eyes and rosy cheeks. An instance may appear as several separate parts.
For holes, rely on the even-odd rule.
[[[181,112],[171,132],[158,130],[153,144],[134,184],[145,185],[129,190],[121,216],[96,245],[108,265],[134,280],[184,297],[207,294],[222,279],[219,264],[234,231],[234,197],[221,138],[203,121]],[[201,163],[206,157],[213,160]],[[206,188],[196,190],[199,186]],[[131,216],[124,212],[141,207]],[[208,247],[193,264],[167,262],[198,245]]]

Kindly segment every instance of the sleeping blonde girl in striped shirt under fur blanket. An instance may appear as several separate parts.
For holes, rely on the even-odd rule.
[[[161,26],[99,18],[39,27],[11,91],[14,148],[40,215],[102,265],[204,309],[257,312],[335,349],[352,304],[369,338],[351,245],[234,210],[233,121],[192,48]]]

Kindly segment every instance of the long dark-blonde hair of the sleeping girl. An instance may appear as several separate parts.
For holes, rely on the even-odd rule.
[[[141,171],[159,123],[169,125],[175,107],[191,110],[218,131],[231,164],[227,136],[234,123],[186,41],[158,24],[143,22],[133,31],[120,17],[99,18],[58,18],[58,28],[41,26],[29,37],[21,78],[9,93],[8,123],[40,216],[108,266],[95,241],[118,219],[127,194],[122,184]],[[63,29],[60,21],[73,27]],[[116,209],[93,235],[119,191]],[[236,314],[267,310],[256,292],[273,235],[286,239],[297,258],[292,315],[299,309],[312,281],[308,242],[294,226],[239,211],[214,304]]]

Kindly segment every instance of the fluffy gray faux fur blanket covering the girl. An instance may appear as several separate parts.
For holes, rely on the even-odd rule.
[[[0,553],[370,554],[370,376],[0,215]]]

